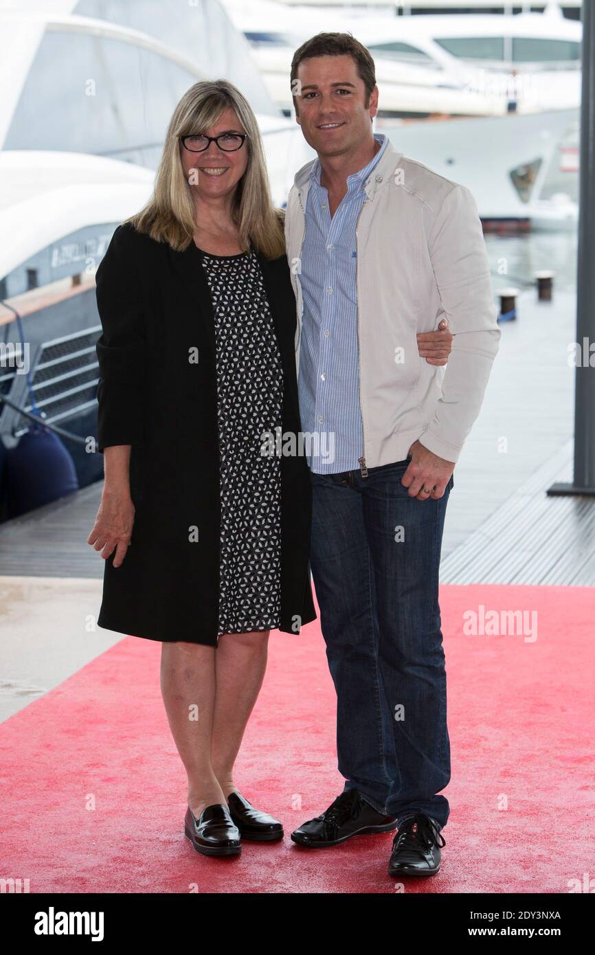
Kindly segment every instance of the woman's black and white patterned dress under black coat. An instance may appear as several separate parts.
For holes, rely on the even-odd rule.
[[[281,425],[283,367],[254,250],[201,258],[217,346],[221,636],[280,624],[281,458],[261,450]]]

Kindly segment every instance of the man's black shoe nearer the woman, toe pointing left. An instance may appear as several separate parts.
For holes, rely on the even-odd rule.
[[[339,845],[351,836],[388,833],[392,829],[396,829],[393,816],[378,813],[356,789],[348,789],[337,796],[322,816],[309,819],[292,832],[291,838],[308,849],[325,849],[329,845]]]

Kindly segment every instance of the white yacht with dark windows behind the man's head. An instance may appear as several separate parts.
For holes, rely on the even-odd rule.
[[[550,14],[359,17],[353,11],[224,0],[267,88],[289,115],[297,47],[319,31],[351,31],[371,51],[379,111],[392,117],[503,116],[578,107],[580,23]]]

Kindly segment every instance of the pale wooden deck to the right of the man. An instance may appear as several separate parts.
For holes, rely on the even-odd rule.
[[[503,323],[478,421],[455,469],[444,584],[595,584],[595,499],[547,497],[572,480],[576,298],[524,292]]]

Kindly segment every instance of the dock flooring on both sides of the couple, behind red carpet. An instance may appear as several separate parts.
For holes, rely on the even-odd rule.
[[[595,499],[546,495],[572,477],[575,296],[555,291],[541,303],[534,289],[523,291],[518,316],[502,323],[481,412],[455,468],[440,583],[592,586]],[[86,541],[101,489],[99,481],[0,525],[0,719],[122,639],[95,629],[103,559]],[[36,678],[32,656],[46,664]]]

